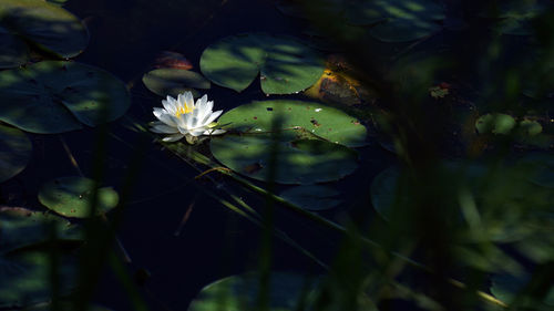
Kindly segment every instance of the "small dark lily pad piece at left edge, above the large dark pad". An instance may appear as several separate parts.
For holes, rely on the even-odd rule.
[[[19,66],[28,61],[25,42],[0,25],[0,69]]]

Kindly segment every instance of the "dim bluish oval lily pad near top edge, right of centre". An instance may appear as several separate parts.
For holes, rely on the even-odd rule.
[[[383,42],[407,42],[425,38],[440,29],[434,22],[394,19],[372,27],[370,33]]]

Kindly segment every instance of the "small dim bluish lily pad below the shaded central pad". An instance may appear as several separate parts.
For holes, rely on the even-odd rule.
[[[280,197],[308,210],[325,210],[342,201],[337,197],[339,194],[331,187],[310,185],[287,189],[280,194]]]

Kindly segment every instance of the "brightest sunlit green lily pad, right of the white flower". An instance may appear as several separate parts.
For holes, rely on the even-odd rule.
[[[226,112],[218,123],[242,133],[267,133],[278,120],[279,128],[315,135],[349,147],[366,144],[366,127],[355,117],[334,107],[302,101],[261,101]]]

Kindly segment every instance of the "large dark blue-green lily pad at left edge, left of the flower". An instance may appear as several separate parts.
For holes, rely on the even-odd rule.
[[[62,133],[113,121],[130,106],[122,81],[75,62],[0,72],[0,121],[32,133]]]

